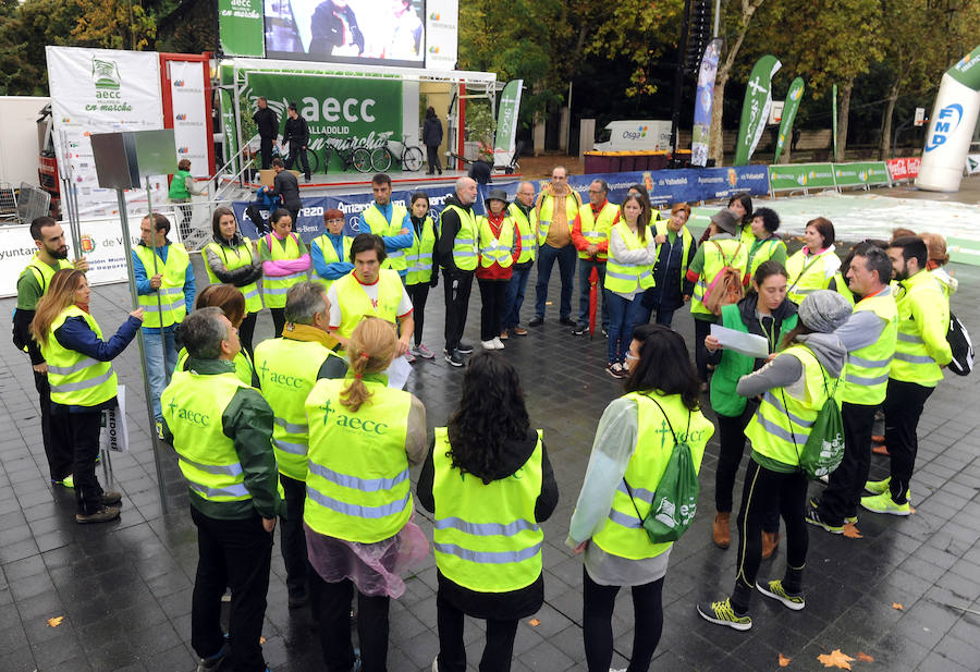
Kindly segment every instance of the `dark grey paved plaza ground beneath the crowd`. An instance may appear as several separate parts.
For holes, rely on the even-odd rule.
[[[976,181],[970,186],[976,191]],[[964,200],[976,204],[976,193]],[[980,268],[954,266],[953,270],[960,288],[953,309],[977,337]],[[525,320],[532,313],[534,282],[532,274]],[[532,424],[544,430],[561,490],[559,506],[543,525],[546,603],[534,621],[525,620],[519,626],[515,672],[586,669],[581,561],[564,541],[596,425],[605,405],[622,393],[621,383],[603,370],[604,341],[572,337],[568,328],[558,325],[558,296],[555,269],[547,321],[527,338],[511,338],[503,351],[520,372]],[[125,285],[93,293],[93,311],[106,332],[119,325],[127,306]],[[13,307],[14,300],[0,301],[0,315],[9,316]],[[474,288],[466,340],[478,341],[478,321],[479,292]],[[442,326],[440,286],[426,310],[426,340],[433,351],[441,350]],[[674,327],[690,343],[694,327],[688,311],[678,311]],[[265,311],[256,342],[271,335],[271,330]],[[112,455],[113,487],[123,492],[122,517],[111,524],[79,526],[74,523],[71,491],[48,484],[28,362],[9,338],[0,338],[0,672],[194,669],[191,592],[197,547],[186,486],[172,451],[162,447],[168,510],[163,513],[135,343],[114,366],[127,388],[132,440],[130,453]],[[462,370],[441,357],[415,365],[408,389],[425,403],[430,428],[445,424],[462,377]],[[857,523],[861,538],[857,539],[809,528],[806,609],[791,612],[757,597],[755,624],[747,633],[711,625],[695,611],[698,600],[727,592],[734,576],[734,546],[720,550],[710,539],[715,436],[701,467],[701,511],[671,555],[663,637],[651,669],[774,670],[782,655],[792,659],[789,670],[822,670],[818,656],[840,649],[855,659],[854,670],[980,670],[978,405],[980,374],[968,378],[947,374],[919,424],[911,486],[916,513],[898,518],[862,511]],[[871,477],[882,478],[886,469],[885,459],[875,456]],[[101,468],[99,476],[103,477]],[[739,474],[739,496],[740,480]],[[818,491],[812,485],[811,493]],[[419,511],[416,520],[431,535],[427,514]],[[763,561],[759,577],[781,577],[784,566],[781,546],[772,560]],[[272,572],[264,628],[267,661],[275,672],[323,670],[308,609],[286,607],[278,534]],[[438,652],[431,555],[406,583],[407,592],[391,609],[392,672],[428,670]],[[49,625],[49,619],[58,618],[63,620],[57,627]],[[626,667],[623,655],[630,650],[632,622],[628,591],[621,591],[613,619],[614,668]],[[473,669],[479,660],[481,635],[481,623],[468,621]]]

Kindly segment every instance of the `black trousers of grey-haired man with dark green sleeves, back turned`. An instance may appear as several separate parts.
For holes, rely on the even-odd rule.
[[[272,535],[258,515],[240,521],[219,521],[191,506],[197,526],[197,576],[191,606],[191,646],[201,658],[218,653],[221,632],[221,596],[231,588],[228,632],[231,670],[264,672],[266,662],[259,637],[266,616]]]

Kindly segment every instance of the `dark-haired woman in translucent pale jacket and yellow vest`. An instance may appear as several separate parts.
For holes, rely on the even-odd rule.
[[[630,672],[646,672],[663,628],[663,577],[672,543],[642,527],[677,441],[699,469],[714,427],[699,407],[697,371],[684,339],[661,325],[633,331],[626,394],[602,414],[566,543],[584,553],[583,637],[589,672],[607,672],[613,653],[616,594],[633,592]],[[632,501],[630,501],[632,500]]]

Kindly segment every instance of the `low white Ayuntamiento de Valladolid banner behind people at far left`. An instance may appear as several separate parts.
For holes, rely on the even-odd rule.
[[[171,208],[158,210],[167,217],[173,227],[170,229],[171,242],[181,240],[180,212]],[[61,222],[65,232],[68,222]],[[123,244],[122,224],[119,218],[91,219],[82,221],[82,255],[88,259],[88,272],[85,277],[88,284],[110,284],[126,280],[126,251],[139,243],[139,220],[130,218],[130,245]],[[69,244],[69,259],[74,259],[78,254],[71,249]],[[17,295],[17,278],[21,271],[34,257],[37,246],[30,237],[30,228],[27,225],[0,228],[0,296]]]

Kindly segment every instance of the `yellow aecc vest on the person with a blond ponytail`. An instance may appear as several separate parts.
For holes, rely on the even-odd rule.
[[[405,454],[412,395],[365,380],[371,396],[355,413],[340,403],[351,380],[322,378],[306,399],[303,520],[317,534],[375,543],[393,537],[412,516]]]

